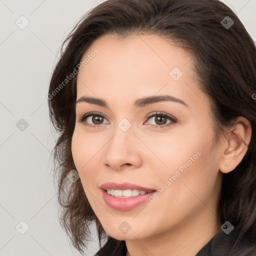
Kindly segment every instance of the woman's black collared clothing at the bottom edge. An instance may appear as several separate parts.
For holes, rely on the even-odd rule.
[[[108,237],[105,245],[94,255],[126,256],[126,252],[125,241]],[[252,242],[248,234],[240,232],[240,230],[236,228],[229,234],[221,230],[207,242],[195,256],[256,256],[256,241]]]

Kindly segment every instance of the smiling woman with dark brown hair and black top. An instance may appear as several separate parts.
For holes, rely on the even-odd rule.
[[[256,255],[255,93],[255,44],[218,0],[89,11],[48,94],[72,244],[95,221],[99,256]]]

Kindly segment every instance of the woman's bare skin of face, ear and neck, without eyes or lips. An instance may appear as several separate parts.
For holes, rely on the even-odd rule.
[[[239,117],[233,132],[222,136],[220,145],[214,147],[209,98],[198,88],[192,55],[170,41],[148,34],[125,39],[104,35],[84,57],[95,48],[99,52],[78,72],[77,99],[98,97],[108,108],[77,103],[71,144],[89,203],[104,230],[125,240],[127,255],[193,256],[221,231],[216,207],[222,173],[233,170],[245,155],[247,147],[238,137],[249,143],[250,123]],[[178,80],[169,75],[173,67],[183,72]],[[183,100],[188,107],[171,101],[133,106],[138,98],[164,94]],[[93,122],[90,116],[79,122],[91,111],[106,118]],[[151,127],[171,122],[157,122],[157,116],[146,119],[156,111],[177,122]],[[127,131],[118,127],[123,118],[131,124]],[[85,126],[99,123],[97,128]],[[197,151],[200,156],[154,202],[128,211],[112,209],[104,202],[101,184],[127,181],[158,190]],[[131,227],[125,234],[118,228],[123,221]]]

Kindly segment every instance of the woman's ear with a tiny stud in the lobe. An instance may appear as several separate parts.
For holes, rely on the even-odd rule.
[[[251,124],[243,116],[236,118],[235,127],[228,133],[220,155],[219,170],[223,173],[232,171],[242,160],[251,139]]]

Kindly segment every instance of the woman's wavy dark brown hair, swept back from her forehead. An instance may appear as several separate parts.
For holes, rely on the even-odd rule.
[[[226,16],[234,22],[229,28],[221,22]],[[71,138],[77,75],[65,84],[63,81],[98,37],[143,33],[170,39],[192,52],[198,86],[210,97],[216,141],[219,134],[235,125],[237,116],[250,121],[252,135],[245,156],[233,171],[223,174],[218,220],[228,220],[255,240],[256,100],[252,95],[256,93],[256,49],[236,14],[218,0],[107,0],[87,12],[67,36],[48,91],[50,120],[59,133],[53,151],[62,227],[81,253],[89,240],[92,221],[99,241],[106,237],[80,179],[72,183],[66,178],[75,169]]]

